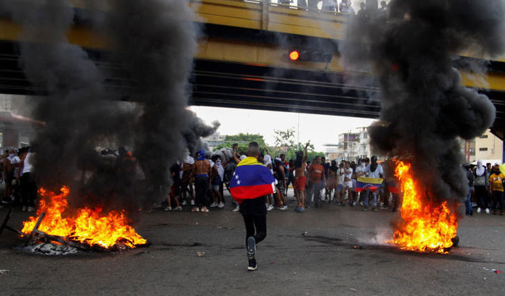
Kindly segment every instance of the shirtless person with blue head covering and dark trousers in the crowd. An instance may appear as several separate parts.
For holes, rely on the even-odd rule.
[[[193,176],[195,177],[195,206],[192,212],[208,212],[209,198],[209,176],[210,176],[210,162],[205,159],[205,151],[200,150],[198,159],[194,162]]]

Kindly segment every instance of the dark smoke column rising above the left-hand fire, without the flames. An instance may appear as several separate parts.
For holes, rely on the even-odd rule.
[[[88,2],[93,3],[98,1]],[[26,77],[48,94],[33,114],[46,123],[34,145],[39,185],[86,183],[78,192],[92,196],[90,201],[112,201],[120,208],[136,197],[133,192],[160,201],[171,185],[169,166],[185,147],[200,148],[199,137],[219,126],[205,125],[187,109],[198,31],[193,11],[180,0],[100,1],[104,6],[111,9],[89,10],[84,17],[107,34],[113,48],[107,62],[129,75],[134,103],[104,100],[114,96],[103,84],[110,73],[68,43],[66,33],[75,20],[70,1],[0,1],[2,13],[30,40],[20,45]],[[142,188],[132,185],[131,171],[114,169],[115,159],[98,157],[99,146],[133,150],[145,176]],[[89,182],[86,172],[92,175]]]

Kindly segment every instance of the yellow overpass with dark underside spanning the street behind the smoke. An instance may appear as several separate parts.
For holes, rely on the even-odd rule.
[[[371,74],[352,68],[339,54],[348,15],[306,11],[265,0],[192,0],[190,5],[205,34],[194,60],[191,104],[378,117],[380,103],[374,98],[379,88],[371,82]],[[77,15],[88,9],[86,1],[75,0],[74,7]],[[31,85],[18,67],[20,30],[7,17],[0,19],[0,92],[44,95],[45,90]],[[108,71],[114,75],[106,77],[104,84],[111,95],[128,100],[128,84],[133,81],[121,65],[107,59],[107,52],[113,50],[107,36],[76,20],[68,40],[84,47],[99,67],[114,69]],[[290,61],[288,52],[293,49],[316,52],[324,58],[318,62]],[[463,84],[485,88],[482,92],[497,107],[492,131],[504,139],[505,59],[490,63],[483,84],[465,69],[465,63],[479,59],[462,53],[456,66],[463,72]]]

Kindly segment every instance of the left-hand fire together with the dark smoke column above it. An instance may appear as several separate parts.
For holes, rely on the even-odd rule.
[[[88,1],[86,10],[71,3],[0,0],[0,13],[20,25],[20,39],[26,40],[20,42],[20,68],[46,95],[33,100],[33,117],[46,123],[33,143],[38,185],[45,189],[38,217],[26,221],[23,231],[31,233],[43,213],[39,235],[132,248],[146,240],[123,210],[166,197],[169,166],[185,148],[200,149],[199,138],[219,125],[208,127],[187,109],[198,32],[194,13],[180,0]],[[99,63],[69,42],[77,21],[107,36],[112,50],[93,54]],[[125,73],[119,95],[107,84],[118,71]],[[125,96],[131,102],[121,102]],[[127,158],[121,153],[113,165],[104,165],[98,147],[129,148],[142,180],[121,166]],[[54,194],[62,185],[68,187]]]

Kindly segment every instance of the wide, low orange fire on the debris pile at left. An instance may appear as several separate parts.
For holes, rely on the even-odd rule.
[[[49,235],[58,235],[67,240],[90,246],[98,245],[105,249],[118,242],[130,248],[147,243],[147,240],[129,225],[130,220],[123,212],[104,213],[102,208],[87,207],[79,208],[75,214],[65,212],[70,194],[68,187],[63,186],[60,194],[47,192],[45,189],[39,189],[39,194],[41,198],[37,215],[23,222],[23,233],[31,233],[38,217],[44,212],[45,217],[38,229]]]

